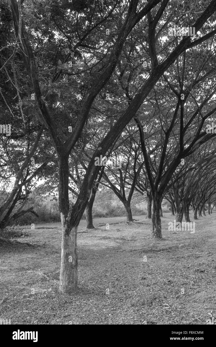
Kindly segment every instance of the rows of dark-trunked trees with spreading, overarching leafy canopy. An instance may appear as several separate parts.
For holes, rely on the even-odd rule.
[[[14,176],[1,226],[26,212],[35,178],[58,187],[60,291],[76,291],[77,228],[86,208],[92,224],[100,183],[120,198],[128,220],[133,192],[146,192],[156,238],[163,198],[178,221],[189,218],[190,205],[196,217],[214,201],[215,133],[206,125],[216,111],[216,3],[0,3],[1,124],[12,126],[11,136],[0,135],[2,182]],[[170,37],[177,24],[195,27],[195,37]],[[111,154],[121,169],[95,165]],[[12,214],[19,200],[22,210]]]

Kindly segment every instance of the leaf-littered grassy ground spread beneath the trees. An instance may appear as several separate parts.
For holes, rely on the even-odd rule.
[[[192,214],[190,214],[193,221]],[[0,247],[0,318],[11,324],[207,324],[216,308],[216,212],[195,233],[151,236],[145,216],[95,219],[78,228],[78,293],[59,294],[60,223],[26,227]],[[106,224],[110,224],[110,229]],[[108,294],[110,293],[110,294]]]

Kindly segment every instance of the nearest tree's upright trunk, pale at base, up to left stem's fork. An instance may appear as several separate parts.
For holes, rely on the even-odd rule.
[[[59,291],[74,293],[77,291],[77,226],[71,225],[69,214],[68,157],[62,153],[59,159],[59,212],[61,216],[61,269]]]

